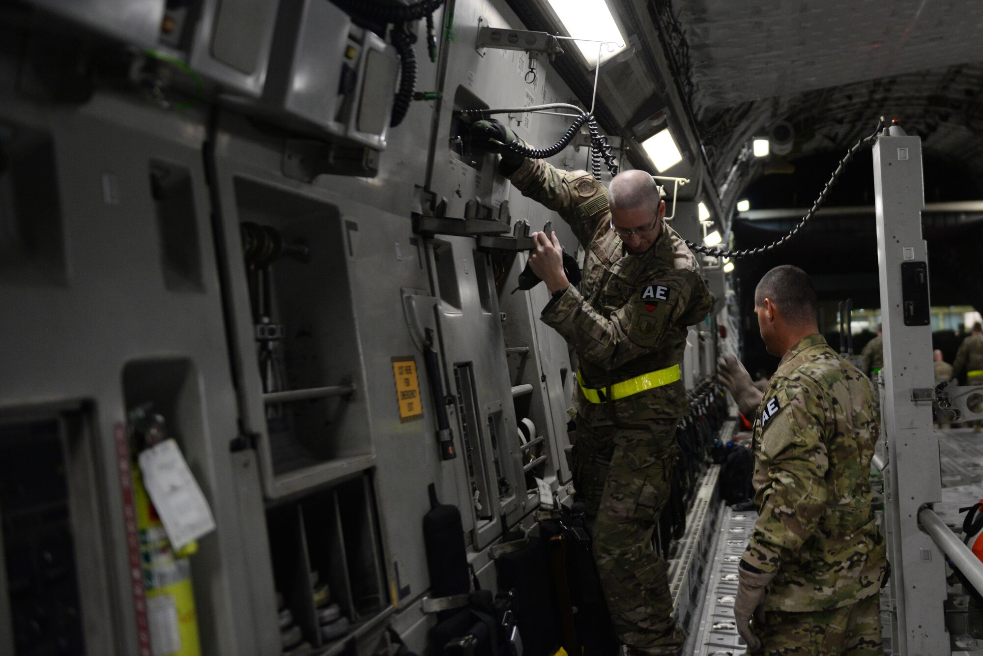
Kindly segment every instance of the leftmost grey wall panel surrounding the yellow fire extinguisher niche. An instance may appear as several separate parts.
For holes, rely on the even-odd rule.
[[[238,431],[207,220],[202,117],[168,114],[110,94],[80,108],[4,95],[0,116],[16,134],[36,137],[35,145],[49,144],[53,162],[47,164],[57,163],[57,169],[47,185],[33,181],[40,185],[35,205],[47,208],[52,227],[41,239],[60,242],[18,246],[15,239],[22,270],[5,269],[0,280],[0,305],[17,317],[0,328],[4,341],[16,345],[0,378],[0,411],[92,404],[91,448],[101,484],[73,493],[91,494],[99,513],[74,521],[84,534],[104,527],[102,571],[114,600],[113,618],[87,618],[94,643],[115,645],[103,653],[136,651],[120,481],[106,472],[118,471],[114,434],[125,423],[126,405],[155,401],[159,410],[172,410],[169,425],[218,526],[192,559],[202,648],[255,653],[241,524],[231,494],[229,444]],[[37,148],[35,154],[44,152]],[[45,156],[40,159],[29,163],[44,166]],[[154,167],[179,183],[181,211],[155,203]],[[180,239],[174,221],[184,231]]]

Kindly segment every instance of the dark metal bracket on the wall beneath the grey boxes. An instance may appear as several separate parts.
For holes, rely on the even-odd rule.
[[[283,142],[282,169],[286,177],[304,183],[312,183],[320,175],[375,178],[378,152],[361,145],[288,138]]]

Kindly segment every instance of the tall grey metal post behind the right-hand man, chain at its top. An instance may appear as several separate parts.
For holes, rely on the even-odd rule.
[[[945,556],[918,525],[918,510],[941,500],[939,441],[932,427],[935,377],[928,252],[922,239],[921,139],[895,121],[874,145],[877,255],[884,323],[881,416],[889,467],[885,521],[895,654],[950,654],[943,604]]]

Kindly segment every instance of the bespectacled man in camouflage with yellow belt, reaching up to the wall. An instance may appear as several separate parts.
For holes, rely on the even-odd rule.
[[[515,138],[487,125],[502,143]],[[706,318],[713,298],[692,252],[663,222],[665,202],[648,174],[615,177],[615,199],[586,171],[543,160],[503,153],[499,170],[556,211],[587,251],[580,289],[563,276],[555,236],[534,235],[530,257],[553,292],[541,319],[579,359],[574,480],[619,638],[629,654],[677,654],[685,634],[652,535],[686,409],[679,362],[687,326]]]

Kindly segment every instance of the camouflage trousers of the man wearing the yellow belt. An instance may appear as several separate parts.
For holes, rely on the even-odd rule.
[[[652,428],[578,426],[574,481],[614,630],[629,654],[656,656],[676,654],[686,637],[652,542],[669,497],[677,420],[644,423]]]

